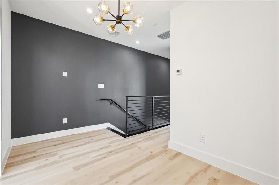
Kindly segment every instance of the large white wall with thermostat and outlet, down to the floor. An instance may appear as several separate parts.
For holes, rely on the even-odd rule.
[[[278,7],[187,1],[170,19],[170,147],[261,184],[279,184]]]

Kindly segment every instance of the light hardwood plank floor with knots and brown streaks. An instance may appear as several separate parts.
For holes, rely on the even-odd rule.
[[[101,129],[12,147],[5,184],[255,184],[168,148],[169,127]]]

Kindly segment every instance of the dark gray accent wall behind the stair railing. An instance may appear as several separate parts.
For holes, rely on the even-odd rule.
[[[11,138],[107,122],[124,130],[125,113],[99,99],[125,107],[125,96],[169,95],[167,58],[15,12],[11,19]]]

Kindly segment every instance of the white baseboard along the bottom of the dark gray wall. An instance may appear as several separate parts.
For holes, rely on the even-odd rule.
[[[80,128],[60,130],[60,131],[56,131],[56,132],[49,132],[49,133],[45,133],[45,134],[37,134],[37,135],[26,136],[26,137],[21,137],[21,138],[13,138],[13,139],[11,139],[12,146],[22,145],[22,144],[31,143],[31,142],[37,142],[37,141],[51,139],[51,138],[57,138],[57,137],[61,137],[61,136],[71,135],[71,134],[77,134],[77,133],[81,133],[81,132],[104,129],[107,127],[111,127],[112,129],[125,134],[122,130],[116,128],[115,126],[111,125],[110,123],[103,123],[103,124],[98,124],[98,125],[91,125],[91,126],[85,126],[85,127],[80,127]]]

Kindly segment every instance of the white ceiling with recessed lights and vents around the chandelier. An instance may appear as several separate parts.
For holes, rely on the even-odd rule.
[[[93,15],[100,14],[97,9],[99,0],[10,0],[9,2],[11,11],[169,58],[169,39],[163,40],[157,35],[170,29],[169,11],[185,0],[129,0],[133,4],[134,11],[132,15],[124,15],[123,19],[132,20],[136,15],[142,15],[144,24],[135,27],[133,22],[126,22],[126,25],[134,27],[132,35],[125,33],[123,25],[116,25],[116,31],[121,33],[117,37],[111,37],[107,33],[107,25],[114,22],[105,21],[101,26],[93,22]],[[111,13],[117,15],[118,1],[107,0],[107,2]],[[120,14],[124,2],[125,0],[120,0]],[[87,8],[91,8],[93,13],[88,13]],[[113,19],[110,14],[102,16],[104,19]],[[157,26],[153,26],[155,23]],[[136,41],[140,43],[136,44]]]

